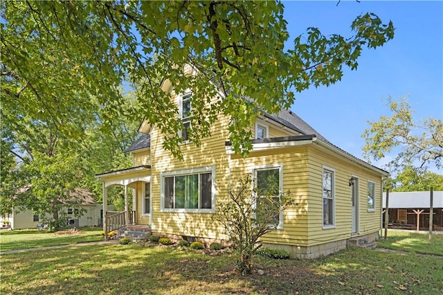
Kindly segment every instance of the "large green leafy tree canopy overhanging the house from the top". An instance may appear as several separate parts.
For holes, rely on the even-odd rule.
[[[189,140],[199,145],[217,116],[230,116],[236,152],[251,149],[248,128],[257,108],[289,107],[294,92],[341,80],[356,69],[364,47],[394,35],[372,13],[352,22],[353,35],[325,37],[316,28],[289,37],[278,1],[2,1],[1,101],[33,120],[65,123],[71,106],[102,110],[100,120],[146,118],[161,129],[164,147],[180,157],[177,106],[159,87],[169,79],[177,93],[192,89]],[[195,75],[183,73],[192,64]],[[133,87],[140,109],[125,110],[120,85]],[[137,84],[138,87],[134,87]],[[222,95],[218,92],[222,89]],[[98,104],[91,103],[91,97]],[[208,105],[210,98],[217,102]],[[246,99],[245,99],[246,98]],[[98,108],[98,109],[97,109]],[[198,110],[198,111],[197,111]]]

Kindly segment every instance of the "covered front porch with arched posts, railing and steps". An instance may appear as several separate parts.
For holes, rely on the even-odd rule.
[[[119,236],[129,238],[147,238],[150,235],[150,166],[138,166],[116,170],[100,175],[103,181],[103,231],[105,240],[108,233],[118,230]],[[107,211],[108,188],[123,186],[125,188],[125,210]],[[132,190],[132,210],[129,210],[129,189]],[[137,215],[137,212],[148,213]]]

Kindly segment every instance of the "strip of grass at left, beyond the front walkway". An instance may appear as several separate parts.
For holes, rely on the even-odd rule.
[[[102,233],[101,228],[80,228],[79,231],[81,233],[72,235],[60,235],[57,233],[49,233],[48,231],[39,231],[37,229],[1,231],[0,251],[3,252],[103,240],[102,235],[100,235],[100,233]]]

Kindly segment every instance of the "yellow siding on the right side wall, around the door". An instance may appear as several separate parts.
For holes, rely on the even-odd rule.
[[[323,229],[323,166],[335,170],[335,228]],[[359,234],[380,228],[381,177],[334,154],[309,148],[309,245],[351,237],[351,177],[359,177]],[[376,184],[377,210],[368,212],[368,180]]]

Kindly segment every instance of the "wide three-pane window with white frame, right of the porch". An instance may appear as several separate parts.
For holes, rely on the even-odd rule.
[[[166,212],[213,213],[215,166],[161,173],[162,205]]]

